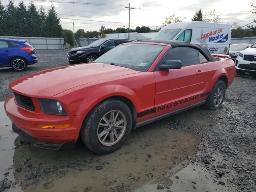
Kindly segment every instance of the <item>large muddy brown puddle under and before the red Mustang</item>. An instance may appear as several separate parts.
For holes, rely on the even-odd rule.
[[[190,133],[154,123],[132,132],[126,144],[112,154],[94,154],[81,143],[71,150],[52,151],[33,147],[12,133],[3,102],[0,122],[0,180],[8,171],[7,178],[16,182],[6,191],[104,192],[143,190],[157,183],[175,186],[166,172],[194,155],[198,144]]]

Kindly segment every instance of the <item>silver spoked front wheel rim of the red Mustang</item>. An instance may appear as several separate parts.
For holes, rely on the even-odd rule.
[[[119,142],[126,130],[126,117],[119,110],[107,112],[98,124],[98,139],[105,146]]]

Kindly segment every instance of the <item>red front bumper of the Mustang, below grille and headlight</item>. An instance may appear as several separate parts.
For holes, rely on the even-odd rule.
[[[43,144],[44,146],[46,146],[46,143],[52,143],[58,144],[58,146],[60,147],[67,142],[75,143],[78,139],[80,128],[83,122],[83,117],[80,115],[59,116],[37,113],[17,106],[14,97],[8,98],[6,100],[6,102],[4,103],[4,108],[7,116],[15,125],[15,128],[18,128],[18,131],[16,132],[23,136],[24,134],[28,135],[30,138],[29,141],[31,141],[31,138],[34,138],[34,140],[37,141],[35,142],[32,140],[32,143],[35,143],[35,146],[38,145],[38,142],[45,142]],[[63,124],[70,124],[70,126],[63,129],[38,128],[38,125]],[[25,138],[28,137],[25,136]],[[58,149],[59,147],[55,148]]]

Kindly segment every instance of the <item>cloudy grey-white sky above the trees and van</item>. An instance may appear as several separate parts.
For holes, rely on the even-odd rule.
[[[3,5],[8,0],[1,0]],[[30,0],[23,0],[26,5]],[[130,12],[130,28],[149,26],[152,29],[160,28],[164,19],[175,13],[184,21],[191,21],[196,10],[202,8],[203,13],[213,9],[221,14],[221,22],[232,24],[239,22],[244,26],[256,19],[256,14],[250,13],[254,0],[243,0],[235,3],[234,0],[49,0],[53,2],[58,16],[61,18],[62,28],[76,31],[79,28],[99,30],[101,25],[106,28],[128,27],[128,8],[135,8]],[[19,0],[15,0],[17,5]],[[62,2],[62,3],[60,3]],[[72,4],[75,2],[77,4]],[[34,0],[39,8],[41,5],[48,10],[52,2]],[[255,3],[254,3],[255,4]],[[76,19],[76,20],[75,20]],[[255,26],[256,23],[253,23]]]

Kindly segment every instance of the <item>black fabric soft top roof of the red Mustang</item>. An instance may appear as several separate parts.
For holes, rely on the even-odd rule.
[[[183,41],[175,41],[175,40],[145,40],[140,42],[153,42],[153,43],[166,43],[170,44],[172,47],[190,47],[194,48],[200,51],[201,54],[203,54],[208,61],[216,61],[217,59],[212,56],[212,54],[209,52],[208,48],[202,47],[199,44],[192,44],[188,42]]]

